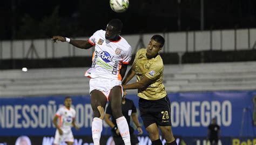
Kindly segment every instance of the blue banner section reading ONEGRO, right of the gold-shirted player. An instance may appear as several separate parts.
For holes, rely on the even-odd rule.
[[[194,92],[169,94],[173,133],[206,136],[216,118],[221,136],[255,136],[252,125],[255,91]],[[244,122],[242,123],[242,120]]]

